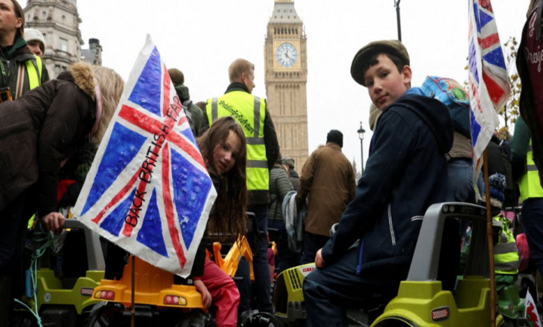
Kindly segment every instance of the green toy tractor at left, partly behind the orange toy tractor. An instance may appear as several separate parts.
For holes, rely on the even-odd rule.
[[[66,219],[64,228],[70,229],[65,248],[74,246],[70,244],[69,239],[75,239],[77,246],[81,248],[70,248],[69,252],[75,253],[76,257],[63,259],[69,261],[67,267],[73,264],[79,267],[71,269],[71,273],[65,271],[63,277],[55,276],[49,262],[49,250],[46,249],[36,262],[36,285],[32,285],[28,278],[26,295],[22,298],[29,308],[38,309],[42,324],[48,327],[80,326],[93,305],[100,303],[91,298],[94,288],[100,285],[100,280],[104,278],[105,262],[100,237],[75,219]],[[42,230],[45,228],[40,228],[39,225],[34,230],[33,255],[35,256],[36,249],[42,248],[47,239],[47,234]],[[72,237],[69,236],[70,234]],[[83,235],[84,241],[81,239]],[[84,262],[85,258],[86,262]],[[22,314],[23,319],[28,321],[23,324],[24,326],[35,322],[30,312],[18,310],[17,313]]]

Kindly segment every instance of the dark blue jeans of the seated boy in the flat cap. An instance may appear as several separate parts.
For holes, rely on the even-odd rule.
[[[409,267],[356,275],[358,254],[358,247],[351,248],[337,262],[315,269],[304,279],[309,327],[347,326],[346,307],[377,308],[398,295]]]

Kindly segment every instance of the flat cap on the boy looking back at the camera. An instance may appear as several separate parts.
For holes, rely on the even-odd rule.
[[[351,76],[354,81],[359,83],[361,86],[365,86],[363,72],[364,63],[368,61],[370,56],[376,52],[392,54],[393,56],[397,56],[398,58],[402,59],[407,65],[409,65],[409,53],[407,53],[407,49],[405,49],[402,42],[398,40],[381,40],[370,42],[356,52],[356,55],[352,60]]]

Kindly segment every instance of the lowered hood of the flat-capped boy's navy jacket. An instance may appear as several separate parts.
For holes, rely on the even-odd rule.
[[[454,129],[449,109],[439,100],[421,96],[418,93],[407,93],[397,102],[388,106],[383,112],[395,106],[402,106],[426,122],[427,127],[436,136],[439,153],[446,154],[453,147]]]

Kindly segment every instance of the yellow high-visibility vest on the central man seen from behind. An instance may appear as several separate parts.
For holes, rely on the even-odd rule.
[[[247,190],[268,191],[269,170],[264,143],[266,100],[244,91],[231,91],[208,99],[205,106],[210,127],[219,118],[231,116],[245,132],[247,142]]]

